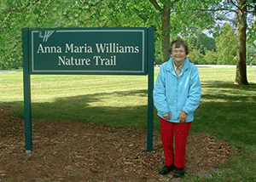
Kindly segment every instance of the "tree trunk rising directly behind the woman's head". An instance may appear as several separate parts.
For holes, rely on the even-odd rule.
[[[164,5],[162,9],[162,27],[161,27],[161,36],[162,36],[162,51],[161,57],[162,62],[166,62],[170,59],[170,8]]]

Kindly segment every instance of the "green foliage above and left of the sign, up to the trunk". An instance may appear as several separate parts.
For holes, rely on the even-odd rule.
[[[150,3],[143,1],[4,0],[0,5],[0,69],[22,67],[25,27],[150,26],[152,20],[159,20]]]

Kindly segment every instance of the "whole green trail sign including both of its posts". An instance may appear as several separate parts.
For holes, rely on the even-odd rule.
[[[32,74],[148,75],[148,143],[153,151],[154,28],[23,29],[26,153],[32,151]]]

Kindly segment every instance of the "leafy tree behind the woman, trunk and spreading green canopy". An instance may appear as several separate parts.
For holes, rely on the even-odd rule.
[[[207,8],[212,3],[210,0],[80,0],[79,3],[91,14],[90,20],[106,21],[104,26],[153,26],[155,48],[157,54],[161,51],[162,62],[170,58],[171,37],[185,37],[191,32],[201,31],[213,20],[210,13],[194,9]]]

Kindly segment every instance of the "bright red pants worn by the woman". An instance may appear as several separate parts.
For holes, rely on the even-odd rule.
[[[186,145],[189,136],[189,128],[192,122],[183,124],[168,122],[160,118],[162,145],[166,156],[166,166],[184,168],[186,161]],[[175,156],[173,151],[173,135],[175,136]]]

